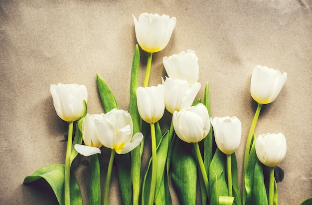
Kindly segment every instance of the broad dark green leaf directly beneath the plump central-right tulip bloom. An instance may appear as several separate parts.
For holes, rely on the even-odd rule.
[[[182,205],[196,204],[197,159],[192,143],[176,139],[171,161],[171,179]]]

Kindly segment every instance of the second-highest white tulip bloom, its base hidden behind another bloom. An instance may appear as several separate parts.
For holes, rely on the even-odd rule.
[[[163,57],[162,63],[170,78],[186,80],[189,84],[198,82],[199,66],[195,51],[188,49],[187,52]]]

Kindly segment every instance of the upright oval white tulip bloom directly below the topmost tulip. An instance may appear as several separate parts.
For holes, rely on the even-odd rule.
[[[164,113],[163,86],[137,88],[137,105],[141,118],[147,123],[156,123]]]

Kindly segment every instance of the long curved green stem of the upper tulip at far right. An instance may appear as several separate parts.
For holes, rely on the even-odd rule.
[[[246,173],[246,167],[247,167],[247,162],[249,158],[249,152],[250,152],[250,146],[251,146],[251,141],[252,141],[252,136],[254,135],[255,127],[259,118],[260,110],[261,110],[262,104],[258,103],[257,110],[255,112],[254,119],[251,123],[249,134],[247,137],[247,142],[246,142],[246,148],[245,148],[245,158],[244,158],[244,173],[243,173],[243,205],[245,205],[246,201],[246,189],[245,189],[245,173]]]

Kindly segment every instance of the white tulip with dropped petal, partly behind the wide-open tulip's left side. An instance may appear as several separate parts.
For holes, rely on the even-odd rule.
[[[85,145],[75,145],[76,151],[87,157],[93,154],[101,153],[99,148],[102,143],[99,140],[99,132],[95,125],[95,120],[103,121],[104,114],[87,114],[82,122],[82,138]]]

